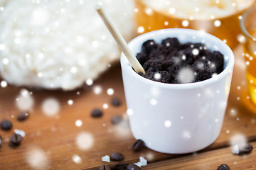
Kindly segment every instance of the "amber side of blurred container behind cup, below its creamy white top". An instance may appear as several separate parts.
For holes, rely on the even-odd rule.
[[[241,34],[241,31],[238,16],[242,15],[245,10],[238,11],[231,16],[225,16],[223,18],[188,20],[189,25],[184,27],[182,25],[183,18],[175,18],[163,11],[154,11],[154,9],[152,9],[149,15],[145,12],[145,9],[148,8],[148,6],[146,6],[142,0],[136,0],[135,6],[137,8],[137,25],[144,27],[144,33],[163,28],[191,28],[204,30],[207,33],[213,34],[220,38],[220,40],[224,40],[231,48],[235,48],[239,44],[237,36]],[[219,27],[214,26],[215,20],[220,21],[221,25]]]

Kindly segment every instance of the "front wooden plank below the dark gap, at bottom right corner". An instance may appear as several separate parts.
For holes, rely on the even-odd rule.
[[[255,148],[256,142],[251,145]],[[227,164],[232,170],[252,170],[256,169],[256,152],[247,155],[232,154],[233,147],[216,149],[201,154],[190,154],[186,157],[178,157],[162,162],[156,162],[146,166],[147,170],[216,170],[220,164]]]

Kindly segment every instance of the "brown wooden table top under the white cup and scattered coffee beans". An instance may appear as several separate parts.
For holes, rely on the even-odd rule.
[[[235,50],[235,70],[232,87],[225,113],[223,129],[213,145],[193,154],[161,154],[150,149],[140,152],[132,150],[134,137],[129,125],[122,85],[120,65],[116,64],[89,88],[75,91],[31,90],[33,107],[30,117],[18,122],[16,98],[22,88],[7,86],[0,88],[0,120],[9,119],[13,123],[10,131],[0,130],[3,144],[0,148],[0,169],[98,169],[102,164],[114,166],[117,162],[102,162],[102,157],[112,152],[124,154],[124,161],[135,163],[144,157],[148,165],[142,169],[217,169],[220,164],[228,164],[231,169],[256,169],[256,151],[247,156],[231,153],[230,141],[234,137],[245,137],[256,147],[256,106],[247,99],[245,64],[241,47]],[[102,88],[101,94],[95,94],[95,86]],[[109,96],[107,89],[114,89]],[[79,92],[79,93],[78,93]],[[119,97],[122,105],[114,107],[111,99]],[[55,98],[60,111],[52,116],[42,111],[47,98]],[[73,105],[68,101],[73,100]],[[103,104],[108,108],[104,109]],[[48,108],[50,108],[49,106]],[[94,108],[101,108],[102,118],[92,118]],[[54,109],[54,108],[50,108]],[[121,125],[112,125],[112,116],[123,115]],[[75,125],[81,120],[82,125]],[[26,136],[20,146],[10,145],[14,129],[23,130]]]

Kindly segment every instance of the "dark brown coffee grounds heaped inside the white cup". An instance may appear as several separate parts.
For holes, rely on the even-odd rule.
[[[192,83],[210,79],[224,69],[223,55],[202,43],[184,43],[166,38],[161,44],[147,40],[137,59],[145,69],[141,76],[167,84]]]

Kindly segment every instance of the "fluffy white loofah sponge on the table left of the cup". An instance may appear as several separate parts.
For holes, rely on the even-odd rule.
[[[63,90],[96,79],[120,54],[95,11],[97,3],[124,38],[132,38],[133,1],[2,1],[1,77],[17,86]]]

